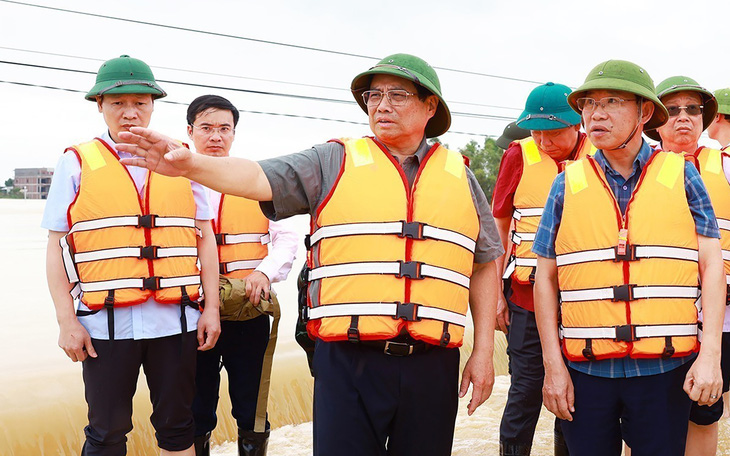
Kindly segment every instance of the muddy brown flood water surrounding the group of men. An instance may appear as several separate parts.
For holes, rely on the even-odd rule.
[[[44,201],[0,199],[0,284],[9,296],[0,304],[0,456],[78,455],[86,424],[81,366],[58,348],[58,326],[45,278],[46,232],[40,228]],[[295,223],[305,230],[305,218]],[[294,271],[301,267],[300,251]],[[282,304],[282,323],[274,359],[269,399],[273,428],[271,456],[309,455],[312,450],[312,379],[304,352],[294,342],[296,320],[295,274],[275,286]],[[499,448],[502,416],[509,377],[505,343],[497,336],[497,380],[492,397],[471,417],[468,396],[459,406],[453,455],[494,455]],[[468,355],[468,344],[462,360]],[[224,385],[222,390],[227,387]],[[129,435],[130,455],[157,454],[149,424],[151,406],[144,375],[134,401],[134,430]],[[219,424],[213,433],[216,455],[236,455],[236,426],[230,418],[227,394],[221,397]],[[553,415],[543,409],[533,455],[552,454]],[[659,436],[658,436],[659,438]],[[228,443],[227,443],[228,442]],[[730,423],[720,424],[720,450],[730,454]]]

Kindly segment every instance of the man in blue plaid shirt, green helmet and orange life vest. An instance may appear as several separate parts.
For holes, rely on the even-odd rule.
[[[710,199],[691,163],[643,141],[669,117],[643,68],[601,63],[568,102],[599,150],[555,179],[533,245],[543,400],[570,454],[620,455],[623,438],[634,456],[683,455],[691,401],[722,394]]]

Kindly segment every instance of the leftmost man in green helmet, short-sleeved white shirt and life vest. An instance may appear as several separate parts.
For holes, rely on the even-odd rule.
[[[108,130],[59,159],[41,223],[49,230],[58,344],[83,366],[87,456],[126,454],[140,366],[160,454],[194,454],[195,353],[212,348],[220,333],[205,189],[127,168],[118,159],[130,155],[116,150],[119,132],[148,126],[154,100],[165,95],[141,60],[123,55],[102,65],[86,99]],[[201,285],[208,296],[202,314]]]

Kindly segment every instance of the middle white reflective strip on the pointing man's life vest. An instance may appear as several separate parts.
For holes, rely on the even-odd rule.
[[[412,277],[408,271],[405,271],[404,265],[416,265],[414,268],[415,277]],[[423,277],[431,277],[441,279],[448,282],[469,288],[469,277],[456,271],[451,271],[438,266],[431,266],[422,263],[403,263],[398,261],[373,261],[367,263],[343,263],[328,266],[321,266],[309,271],[309,281],[325,279],[328,277],[340,277],[348,275],[362,274],[394,274],[400,277],[410,277],[412,279],[420,279]]]

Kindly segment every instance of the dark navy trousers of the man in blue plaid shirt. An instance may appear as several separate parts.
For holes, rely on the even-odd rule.
[[[692,363],[645,377],[604,378],[568,368],[575,390],[573,421],[562,421],[570,454],[683,456],[691,401],[682,389]]]

